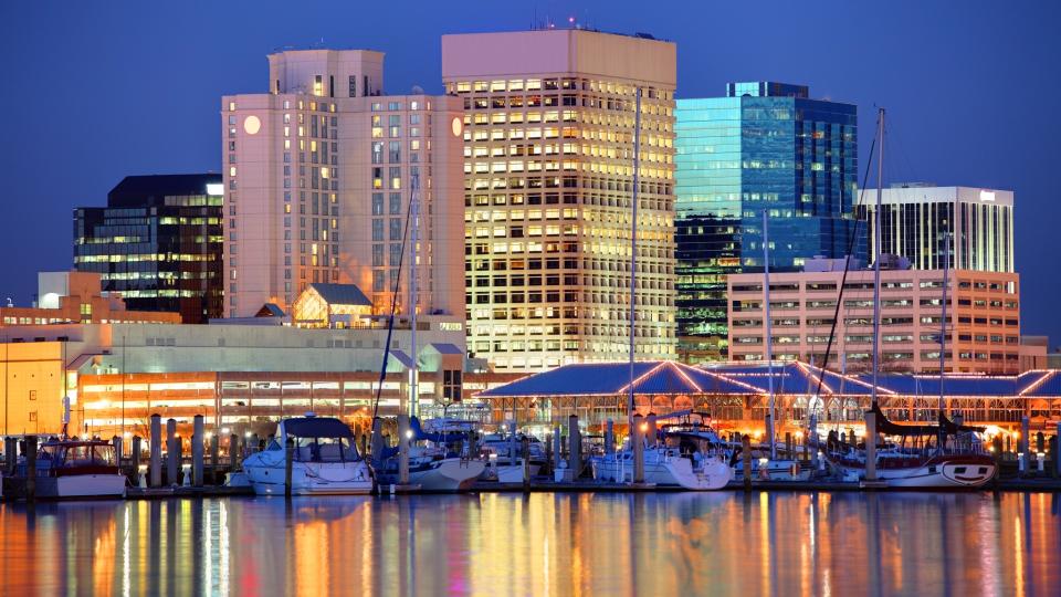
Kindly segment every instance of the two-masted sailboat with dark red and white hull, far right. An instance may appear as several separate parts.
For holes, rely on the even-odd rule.
[[[865,438],[866,446],[873,442],[873,462],[876,479],[887,488],[978,488],[995,478],[995,460],[984,451],[978,433],[983,428],[958,425],[947,418],[944,404],[944,376],[946,365],[947,284],[949,281],[949,241],[945,241],[943,315],[939,350],[939,404],[937,425],[899,425],[884,416],[878,404],[878,377],[880,374],[881,325],[881,190],[884,160],[884,109],[878,112],[876,212],[874,218],[873,260],[873,383],[871,386],[870,413],[876,420],[876,433]],[[841,291],[842,292],[842,291]],[[899,438],[899,443],[881,444],[878,433]],[[935,443],[932,443],[932,439]],[[912,446],[906,447],[906,440]],[[845,480],[866,479],[868,451],[847,446],[832,439],[828,442],[826,457],[830,467]]]

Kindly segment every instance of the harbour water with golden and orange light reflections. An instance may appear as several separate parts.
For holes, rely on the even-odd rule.
[[[1057,494],[483,494],[0,506],[11,593],[1050,594]]]

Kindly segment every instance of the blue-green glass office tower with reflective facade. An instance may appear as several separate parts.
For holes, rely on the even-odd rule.
[[[771,271],[864,256],[864,243],[852,242],[858,113],[769,82],[679,100],[675,113],[679,356],[723,359],[726,275],[763,271],[764,210]]]

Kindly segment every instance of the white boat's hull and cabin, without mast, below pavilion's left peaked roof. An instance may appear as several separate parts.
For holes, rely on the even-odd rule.
[[[617,483],[633,482],[633,450],[629,447],[590,459],[593,478]],[[721,454],[687,458],[677,448],[645,447],[644,482],[659,486],[680,486],[692,491],[713,491],[726,486],[733,470]]]

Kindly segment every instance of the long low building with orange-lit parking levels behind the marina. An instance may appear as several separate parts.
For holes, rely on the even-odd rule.
[[[493,374],[474,370],[464,332],[424,316],[417,332],[419,404],[431,416]],[[148,417],[191,418],[259,431],[306,410],[368,419],[375,406],[387,326],[305,329],[280,325],[149,323],[22,325],[0,331],[4,433],[57,433],[71,399],[71,433],[145,433]],[[380,413],[407,411],[412,364],[408,323],[391,343]],[[64,367],[65,364],[65,367]],[[468,368],[468,370],[465,370]],[[65,378],[64,378],[65,375]],[[496,379],[506,381],[512,377]],[[231,398],[231,399],[228,399]]]

